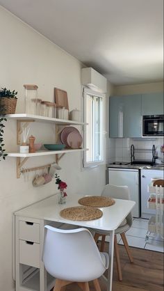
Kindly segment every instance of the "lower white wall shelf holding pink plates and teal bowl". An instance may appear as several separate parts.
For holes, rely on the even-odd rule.
[[[39,157],[45,155],[58,155],[65,154],[66,152],[79,152],[81,150],[85,150],[84,148],[76,148],[76,149],[67,149],[67,150],[49,150],[44,151],[40,150],[39,152],[29,152],[29,153],[21,153],[21,152],[8,152],[8,157]]]

